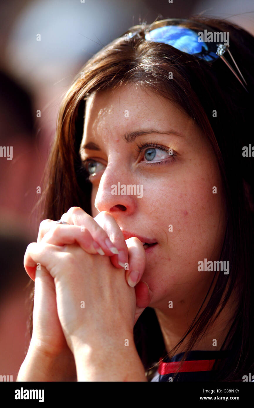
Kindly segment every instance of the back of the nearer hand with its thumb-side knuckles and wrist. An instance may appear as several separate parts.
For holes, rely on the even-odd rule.
[[[133,340],[135,290],[127,285],[124,271],[117,272],[109,257],[88,254],[78,244],[57,246],[43,240],[30,244],[24,256],[29,274],[38,264],[54,278],[57,313],[69,348],[79,356],[76,366],[82,378],[94,372],[88,368],[95,359],[100,367],[114,360],[112,376],[119,375],[121,357],[129,357],[145,381]]]

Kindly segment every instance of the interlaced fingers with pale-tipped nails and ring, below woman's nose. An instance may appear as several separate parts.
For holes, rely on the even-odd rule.
[[[70,225],[44,220],[40,224],[38,238],[60,246],[77,242],[88,253],[108,255],[116,268],[125,266],[126,280],[130,286],[135,286],[137,302],[135,324],[152,298],[148,285],[140,281],[146,264],[146,254],[140,240],[132,237],[125,241],[114,217],[106,211],[102,211],[93,219],[82,208],[71,207],[62,215],[61,220]],[[34,279],[33,271],[27,272]]]

